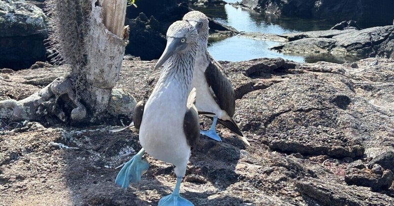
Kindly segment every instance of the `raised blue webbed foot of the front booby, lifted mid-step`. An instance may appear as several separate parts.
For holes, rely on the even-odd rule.
[[[149,163],[142,160],[144,153],[145,149],[142,148],[122,167],[116,176],[115,184],[127,189],[130,182],[136,183],[141,180],[141,176],[149,169]]]

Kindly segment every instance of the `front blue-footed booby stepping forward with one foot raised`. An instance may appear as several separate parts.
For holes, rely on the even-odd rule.
[[[177,21],[168,28],[167,45],[155,65],[155,69],[162,65],[164,68],[148,101],[139,108],[140,117],[134,118],[134,125],[139,126],[142,149],[123,166],[115,180],[123,188],[127,188],[130,181],[139,181],[149,167],[142,160],[145,151],[175,165],[176,186],[172,194],[159,201],[159,206],[193,205],[179,196],[179,189],[191,148],[196,147],[199,138],[197,108],[193,104],[196,89],[189,93],[197,41],[197,30],[188,22]]]

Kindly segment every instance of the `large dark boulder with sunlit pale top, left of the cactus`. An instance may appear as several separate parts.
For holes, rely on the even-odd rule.
[[[24,0],[0,1],[0,68],[29,68],[45,60],[46,16]]]

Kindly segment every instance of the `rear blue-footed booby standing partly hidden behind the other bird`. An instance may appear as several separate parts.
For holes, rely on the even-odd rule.
[[[230,80],[223,67],[207,51],[208,45],[208,18],[199,11],[191,11],[183,17],[184,21],[193,25],[198,32],[198,50],[193,72],[192,87],[197,89],[196,107],[199,111],[212,112],[215,115],[206,115],[213,118],[212,125],[207,131],[200,134],[216,141],[222,141],[215,131],[216,122],[235,133],[246,145],[250,145],[232,116],[235,112],[235,94]]]

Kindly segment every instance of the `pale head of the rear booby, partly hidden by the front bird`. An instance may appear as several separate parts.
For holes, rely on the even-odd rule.
[[[190,11],[183,16],[182,20],[193,25],[200,36],[205,36],[206,34],[206,38],[208,38],[209,21],[208,17],[206,17],[204,13],[200,11]]]

